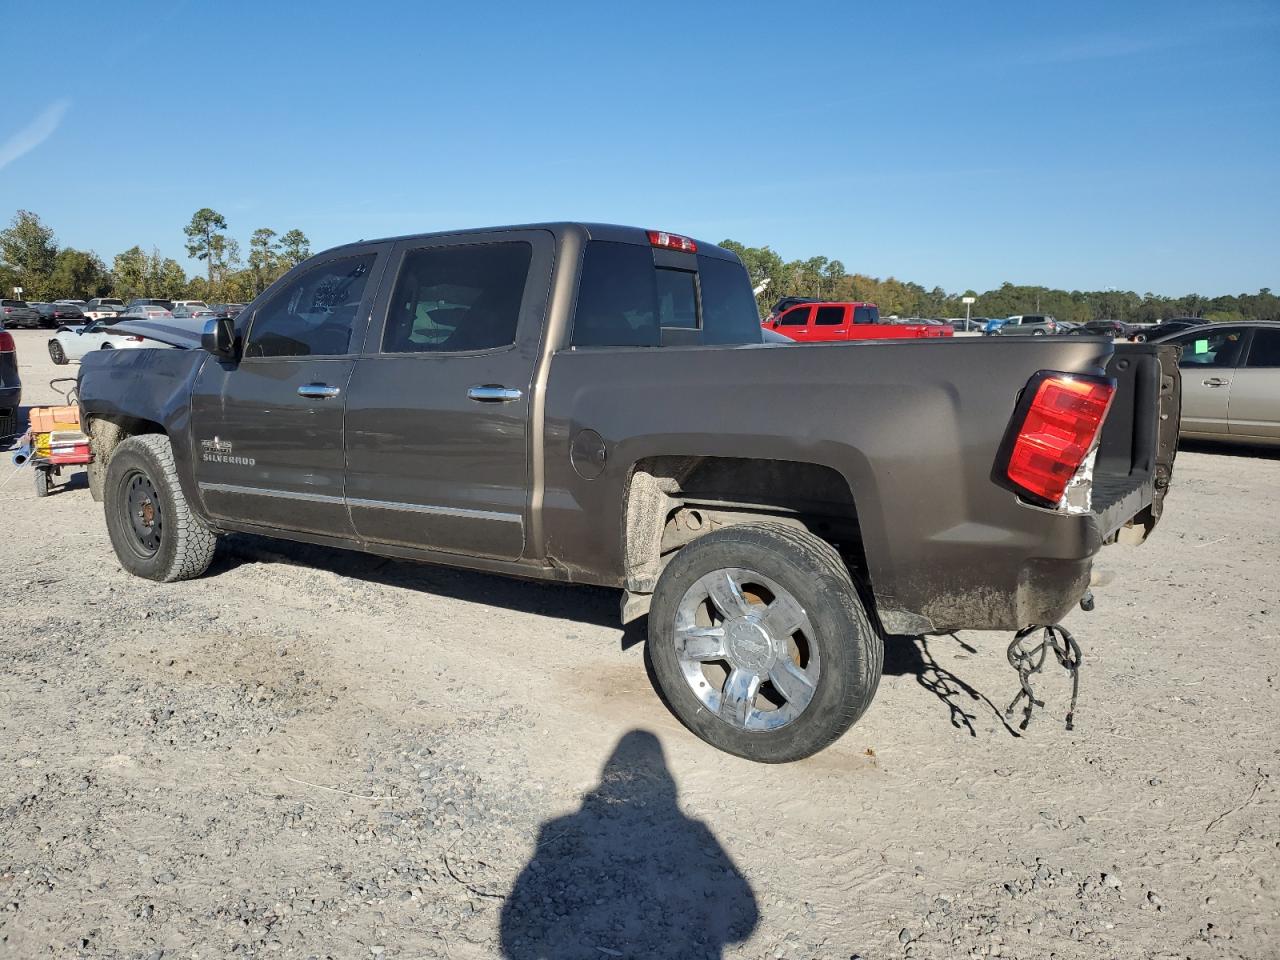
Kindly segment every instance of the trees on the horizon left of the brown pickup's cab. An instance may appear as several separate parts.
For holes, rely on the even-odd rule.
[[[22,288],[28,301],[91,300],[93,297],[163,297],[207,303],[247,302],[289,268],[311,256],[311,241],[300,229],[278,234],[260,227],[250,236],[248,256],[228,236],[227,218],[202,207],[183,228],[187,255],[204,261],[205,275],[188,276],[182,264],[155,247],[129,247],[111,259],[58,243],[52,228],[29,210],[19,210],[0,230],[0,294]]]

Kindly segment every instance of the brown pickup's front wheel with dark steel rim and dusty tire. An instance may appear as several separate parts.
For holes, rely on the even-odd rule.
[[[123,440],[108,463],[104,494],[111,547],[129,573],[168,584],[209,568],[218,534],[187,503],[168,436]]]

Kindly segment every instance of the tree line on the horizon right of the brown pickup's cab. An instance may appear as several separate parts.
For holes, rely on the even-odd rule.
[[[973,316],[1012,316],[1015,314],[1050,314],[1059,320],[1123,320],[1149,323],[1171,316],[1199,316],[1204,320],[1280,320],[1280,297],[1263,287],[1257,293],[1203,297],[1162,297],[1157,293],[1133,291],[1061,291],[1002,283],[998,288],[978,293],[948,293],[893,276],[881,279],[849,273],[838,260],[810,257],[785,261],[769,247],[748,247],[737,241],[722,241],[742,259],[751,285],[769,284],[756,294],[762,314],[781,297],[817,297],[835,301],[868,301],[881,314],[923,317],[957,317],[965,315],[961,297],[974,297]]]

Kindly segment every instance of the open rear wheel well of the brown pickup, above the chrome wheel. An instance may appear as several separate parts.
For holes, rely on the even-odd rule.
[[[762,520],[820,536],[855,580],[865,576],[854,494],[836,470],[790,460],[649,457],[635,465],[627,488],[627,591],[653,593],[667,561],[703,534]]]

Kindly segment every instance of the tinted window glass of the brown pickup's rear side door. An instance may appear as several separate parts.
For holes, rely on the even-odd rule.
[[[509,347],[532,255],[525,241],[410,251],[392,294],[383,352]]]

